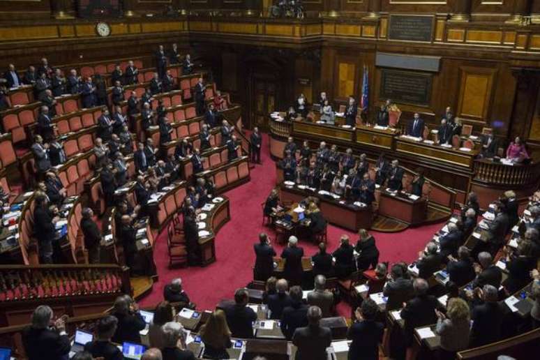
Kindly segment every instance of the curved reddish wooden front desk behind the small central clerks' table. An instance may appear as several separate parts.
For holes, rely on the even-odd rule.
[[[357,207],[353,204],[334,200],[327,195],[320,195],[310,190],[302,190],[297,186],[287,187],[280,185],[280,200],[300,202],[308,196],[317,197],[320,200],[322,216],[333,225],[344,227],[347,230],[357,232],[359,229],[369,229],[373,223],[373,209],[371,207]]]

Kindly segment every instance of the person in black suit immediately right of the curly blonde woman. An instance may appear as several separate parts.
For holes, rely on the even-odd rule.
[[[504,310],[497,302],[497,287],[493,285],[483,285],[479,292],[481,303],[473,306],[471,311],[471,334],[470,347],[495,343],[501,340],[502,320]]]

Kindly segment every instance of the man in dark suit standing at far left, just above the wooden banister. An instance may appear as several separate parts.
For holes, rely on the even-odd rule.
[[[47,209],[48,201],[44,193],[36,195],[36,207],[33,210],[33,230],[38,239],[40,264],[52,264],[52,243],[56,234],[55,225],[58,216],[53,216]]]

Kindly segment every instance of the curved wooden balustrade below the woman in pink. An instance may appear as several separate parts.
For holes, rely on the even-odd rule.
[[[474,181],[500,186],[527,186],[538,183],[540,163],[505,165],[482,159],[474,162],[474,173]]]

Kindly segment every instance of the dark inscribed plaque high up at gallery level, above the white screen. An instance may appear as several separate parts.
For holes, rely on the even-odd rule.
[[[433,16],[390,15],[389,40],[431,41]]]

